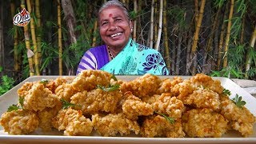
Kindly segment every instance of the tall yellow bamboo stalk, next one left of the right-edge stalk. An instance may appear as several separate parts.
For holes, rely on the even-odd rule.
[[[231,20],[233,17],[233,10],[234,10],[234,0],[231,0],[230,3],[230,14],[229,14],[229,22],[227,23],[226,28],[226,41],[225,41],[225,47],[224,47],[224,60],[223,60],[223,67],[227,66],[227,51],[229,50],[229,42],[230,42],[230,30],[231,30]]]

